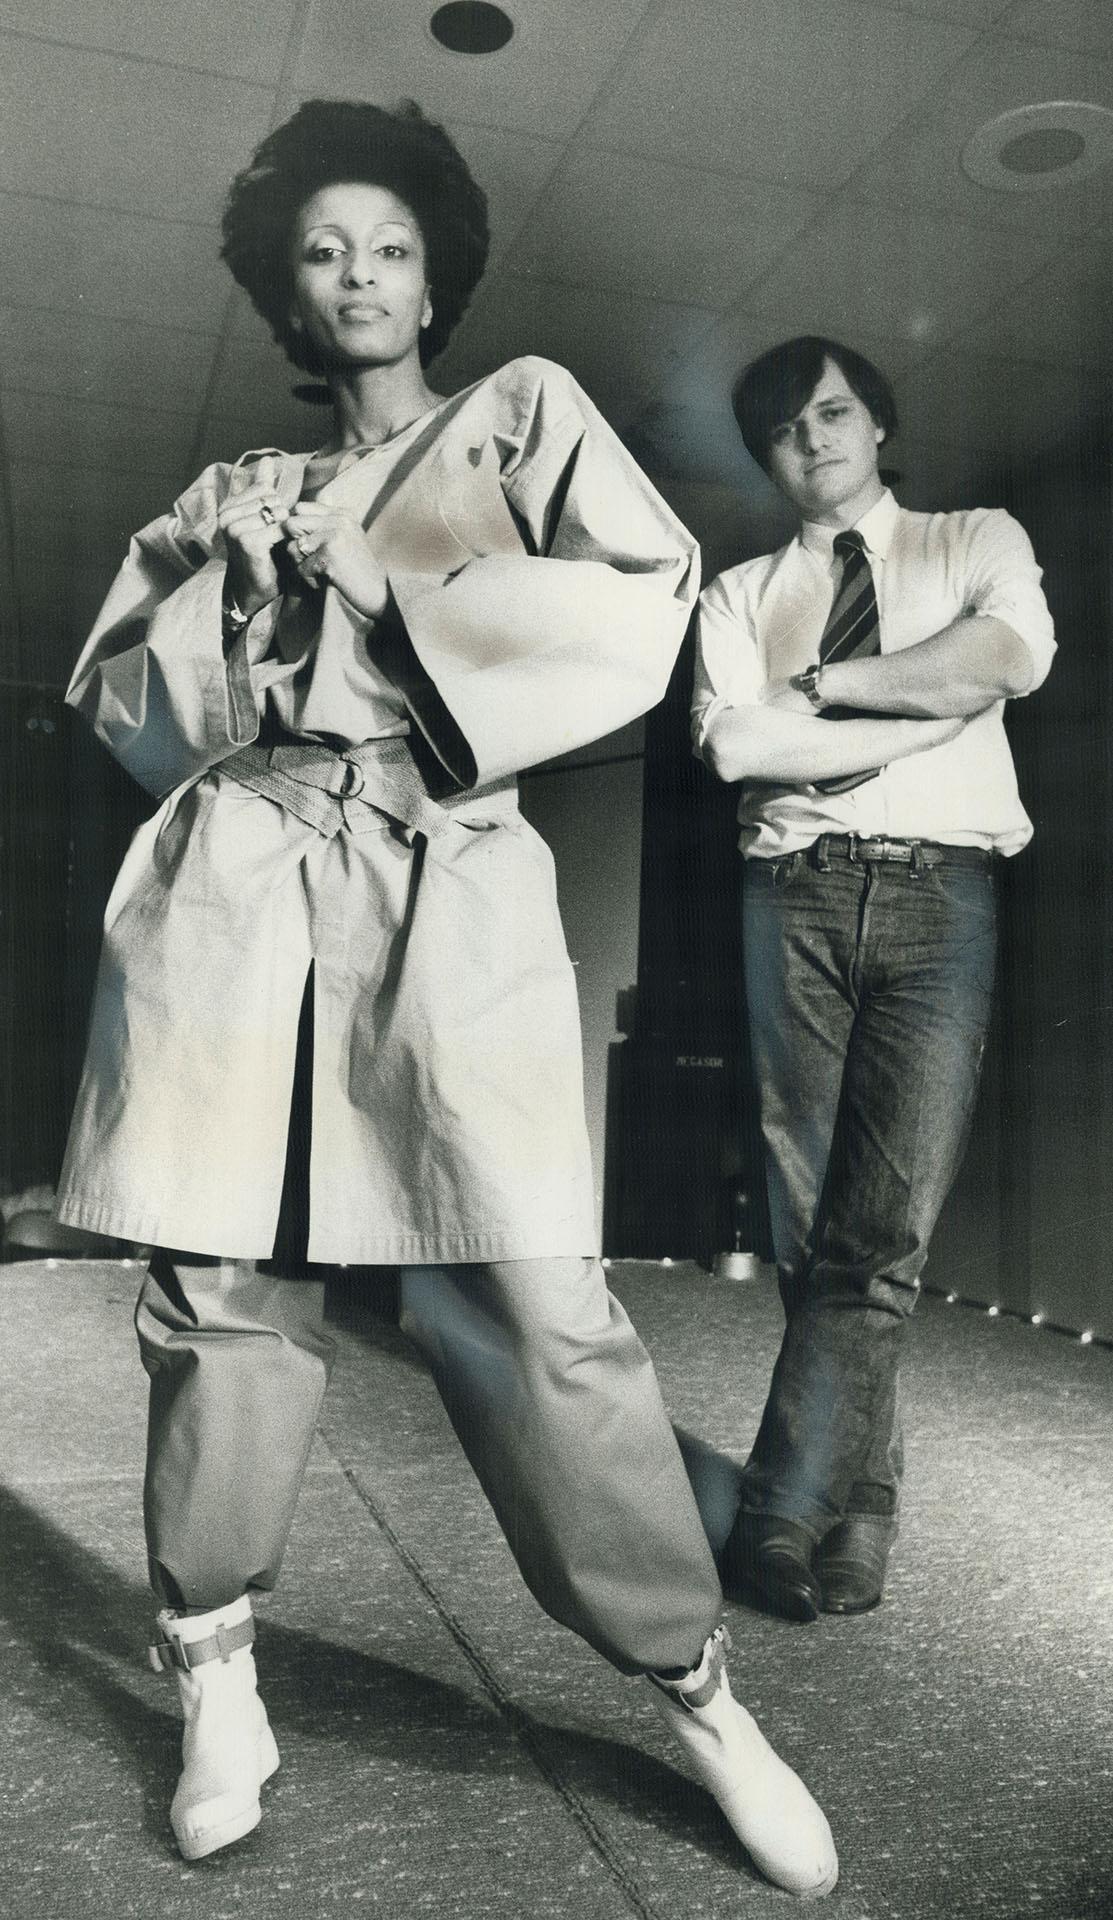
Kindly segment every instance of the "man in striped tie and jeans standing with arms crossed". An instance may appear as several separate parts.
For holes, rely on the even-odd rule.
[[[904,1323],[975,1100],[994,868],[1030,837],[1002,724],[1052,655],[1004,511],[906,513],[885,376],[798,338],[735,388],[800,515],[700,601],[693,728],[741,781],[745,983],[785,1338],[725,1578],[798,1620],[881,1599]]]

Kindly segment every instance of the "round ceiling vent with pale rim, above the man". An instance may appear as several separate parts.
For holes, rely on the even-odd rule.
[[[979,186],[1034,194],[1088,180],[1113,161],[1113,111],[1090,100],[1040,100],[979,127],[961,150]]]

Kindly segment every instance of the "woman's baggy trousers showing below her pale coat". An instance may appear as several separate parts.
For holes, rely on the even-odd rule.
[[[144,1521],[163,1605],[278,1578],[324,1396],[322,1284],[155,1254]],[[722,1605],[652,1363],[593,1260],[405,1267],[401,1319],[541,1607],[622,1672],[699,1661]]]

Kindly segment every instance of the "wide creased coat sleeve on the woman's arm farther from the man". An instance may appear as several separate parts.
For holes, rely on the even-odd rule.
[[[276,484],[296,497],[282,455],[207,467],[167,515],[130,541],[65,695],[155,795],[203,774],[259,732],[267,684],[261,662],[276,607],[263,609],[225,647],[225,549],[217,526],[223,499],[257,478],[251,467],[259,459],[274,461]]]

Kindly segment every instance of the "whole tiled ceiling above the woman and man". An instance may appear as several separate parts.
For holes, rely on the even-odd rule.
[[[789,334],[850,338],[894,376],[910,505],[990,501],[1009,463],[1092,430],[1113,169],[1002,196],[958,154],[1023,100],[1113,104],[1109,0],[512,0],[514,42],[474,61],[434,46],[430,12],[0,0],[0,413],[38,678],[69,674],[130,530],[196,468],[328,432],[219,261],[228,179],[272,88],[294,104],[280,75],[413,94],[449,125],[491,198],[495,271],[434,386],[514,353],[568,363],[714,568],[783,538],[729,388]]]

